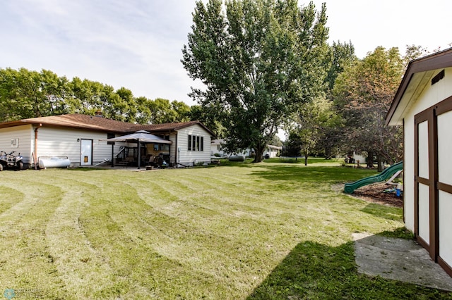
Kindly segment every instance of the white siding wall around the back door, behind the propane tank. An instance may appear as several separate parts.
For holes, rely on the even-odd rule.
[[[40,127],[37,137],[37,156],[68,156],[71,165],[78,166],[81,157],[81,139],[92,139],[94,165],[112,157],[112,145],[99,141],[106,138],[106,132]],[[118,149],[119,145],[115,145],[114,152],[116,153]]]

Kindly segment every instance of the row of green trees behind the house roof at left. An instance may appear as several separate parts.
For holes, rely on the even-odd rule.
[[[50,70],[0,68],[0,122],[66,113],[94,115],[130,123],[158,124],[191,119],[191,108],[181,101],[136,98],[130,89],[100,82],[68,80]]]

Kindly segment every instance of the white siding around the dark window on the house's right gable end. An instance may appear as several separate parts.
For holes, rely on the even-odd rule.
[[[189,135],[204,137],[203,151],[189,151]],[[174,148],[176,148],[175,144],[173,142]],[[177,163],[182,165],[193,165],[195,161],[196,163],[210,163],[210,134],[201,125],[196,124],[178,130],[177,148],[180,148],[177,155]]]

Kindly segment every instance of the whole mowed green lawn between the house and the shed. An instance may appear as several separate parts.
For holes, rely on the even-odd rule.
[[[304,163],[304,162],[303,162]],[[334,192],[374,174],[310,159],[184,170],[0,173],[0,296],[15,299],[432,299],[357,273],[353,232],[402,211]]]

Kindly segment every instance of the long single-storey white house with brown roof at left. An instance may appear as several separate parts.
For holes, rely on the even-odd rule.
[[[102,139],[146,130],[171,143],[143,144],[141,157],[165,154],[174,166],[210,163],[213,132],[199,121],[138,125],[93,115],[54,115],[0,123],[0,150],[16,151],[23,162],[37,165],[40,158],[66,156],[71,166],[96,165],[112,155],[128,156],[131,163],[139,157],[138,146],[112,143]]]

